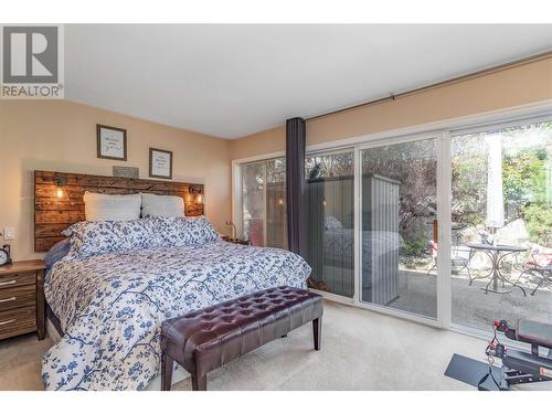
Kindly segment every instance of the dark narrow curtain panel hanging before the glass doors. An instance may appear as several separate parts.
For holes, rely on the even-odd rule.
[[[307,258],[307,192],[305,119],[286,121],[287,241],[289,251]]]

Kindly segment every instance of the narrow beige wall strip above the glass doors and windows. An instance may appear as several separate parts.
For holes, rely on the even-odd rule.
[[[307,121],[307,145],[552,98],[552,57]],[[232,141],[232,159],[284,150],[285,127]]]

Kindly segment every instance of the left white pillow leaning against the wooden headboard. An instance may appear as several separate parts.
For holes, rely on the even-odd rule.
[[[129,221],[140,219],[140,194],[110,195],[86,191],[86,221]]]

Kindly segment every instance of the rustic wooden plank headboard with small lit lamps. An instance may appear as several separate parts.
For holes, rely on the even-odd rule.
[[[57,197],[60,183],[63,183],[61,185],[64,192],[62,198]],[[148,192],[179,195],[184,199],[185,215],[203,214],[203,184],[34,171],[35,252],[47,252],[63,238],[62,231],[71,224],[85,220],[83,201],[85,191],[105,194]]]

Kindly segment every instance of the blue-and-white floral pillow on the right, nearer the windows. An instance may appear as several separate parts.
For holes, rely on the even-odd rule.
[[[158,217],[158,235],[162,246],[192,246],[220,241],[204,216],[198,217]]]

